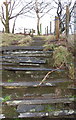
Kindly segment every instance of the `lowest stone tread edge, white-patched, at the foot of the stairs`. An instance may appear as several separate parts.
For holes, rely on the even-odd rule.
[[[73,115],[73,116],[72,116]],[[52,119],[56,119],[56,118],[60,118],[60,117],[67,117],[68,118],[75,118],[74,115],[76,115],[74,110],[61,110],[61,111],[52,111],[52,112],[34,112],[34,113],[20,113],[20,115],[18,116],[19,118],[39,118],[39,120],[46,118],[47,120],[50,119],[50,117],[52,117]],[[40,119],[41,118],[41,119]]]

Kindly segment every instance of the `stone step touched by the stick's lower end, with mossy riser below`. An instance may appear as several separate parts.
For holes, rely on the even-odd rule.
[[[45,98],[61,98],[61,97],[73,97],[75,93],[73,90],[68,88],[65,82],[64,86],[61,83],[56,85],[56,83],[47,82],[40,86],[37,86],[39,82],[24,82],[24,83],[2,83],[2,96],[11,96],[11,99],[39,99],[40,97]],[[34,83],[34,84],[33,84]],[[58,83],[57,83],[58,84]],[[60,83],[59,83],[60,84]],[[41,98],[41,99],[42,99]]]

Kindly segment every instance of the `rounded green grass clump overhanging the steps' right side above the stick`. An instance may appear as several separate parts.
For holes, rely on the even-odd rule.
[[[69,71],[69,78],[74,79],[74,58],[64,46],[58,46],[53,52],[54,66],[66,66]]]

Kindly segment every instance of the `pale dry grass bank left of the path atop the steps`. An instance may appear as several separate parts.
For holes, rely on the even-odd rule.
[[[10,45],[28,46],[31,42],[32,38],[30,36],[0,33],[0,47]]]

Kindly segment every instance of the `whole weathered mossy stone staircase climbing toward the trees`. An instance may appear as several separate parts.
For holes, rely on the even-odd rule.
[[[28,47],[2,48],[0,118],[75,118],[74,81],[66,71],[57,70],[37,86],[53,70],[52,51],[44,51],[44,43],[34,37]]]

